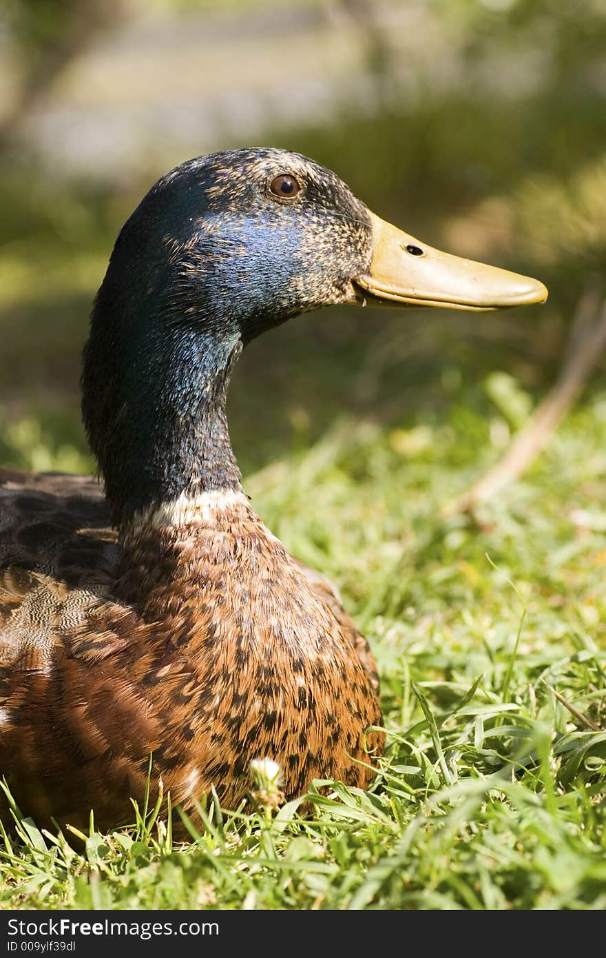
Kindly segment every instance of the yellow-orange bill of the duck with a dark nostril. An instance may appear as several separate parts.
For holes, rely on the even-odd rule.
[[[539,280],[442,253],[373,213],[370,220],[370,269],[354,282],[363,305],[501,309],[548,298]]]

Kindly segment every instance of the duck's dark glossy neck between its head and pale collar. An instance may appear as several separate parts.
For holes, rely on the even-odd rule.
[[[122,528],[182,494],[241,489],[225,411],[241,343],[181,326],[162,333],[107,354],[92,331],[85,350],[84,422]]]

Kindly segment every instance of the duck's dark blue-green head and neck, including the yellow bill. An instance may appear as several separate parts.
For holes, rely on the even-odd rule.
[[[547,295],[403,233],[299,153],[182,164],[123,226],[84,353],[83,417],[114,513],[239,482],[235,463],[220,465],[225,392],[260,332],[342,303],[477,310]]]

